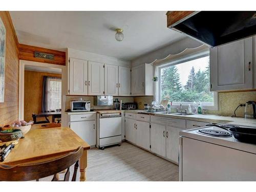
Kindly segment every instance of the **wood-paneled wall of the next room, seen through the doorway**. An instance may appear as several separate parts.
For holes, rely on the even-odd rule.
[[[42,104],[42,81],[44,76],[61,77],[61,74],[25,71],[24,120],[32,120],[32,113],[39,114]],[[50,120],[50,119],[49,119]]]

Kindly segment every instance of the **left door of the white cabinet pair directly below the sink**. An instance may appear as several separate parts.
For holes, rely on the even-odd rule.
[[[162,157],[166,156],[165,126],[151,123],[151,151]]]

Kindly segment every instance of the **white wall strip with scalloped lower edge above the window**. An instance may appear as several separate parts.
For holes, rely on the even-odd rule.
[[[194,39],[186,37],[186,38],[176,41],[173,44],[170,44],[166,47],[152,51],[150,53],[147,53],[145,55],[142,55],[142,56],[132,60],[132,66],[134,67],[134,66],[140,65],[142,63],[151,63],[155,59],[163,59],[166,56],[168,56],[169,54],[177,54],[177,53],[182,52],[186,48],[196,48],[200,45],[202,45],[201,42],[198,42]]]

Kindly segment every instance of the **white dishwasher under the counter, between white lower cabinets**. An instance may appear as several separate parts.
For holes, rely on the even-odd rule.
[[[96,147],[104,149],[105,146],[116,145],[122,142],[121,118],[121,113],[97,114]]]

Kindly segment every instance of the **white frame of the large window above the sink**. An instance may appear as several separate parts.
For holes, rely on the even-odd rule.
[[[160,64],[159,66],[156,67],[157,75],[158,75],[158,83],[156,87],[156,99],[158,101],[161,101],[161,69],[170,67],[170,66],[175,66],[179,65],[180,63],[187,62],[190,60],[195,60],[198,58],[206,57],[209,56],[209,50],[207,51],[202,51],[199,53],[194,53],[191,55],[187,55],[182,58],[178,58],[172,61],[164,62]],[[210,69],[209,69],[210,70]],[[210,78],[211,79],[211,78]],[[191,106],[193,105],[193,102],[173,102],[172,108],[174,109],[179,109],[180,108],[180,103],[182,103],[182,106],[184,108],[188,108],[188,105],[190,104]],[[209,102],[201,102],[201,105],[203,106],[204,110],[218,110],[218,92],[214,92],[214,102],[213,105],[209,104]]]

